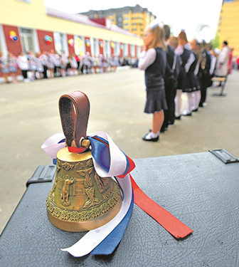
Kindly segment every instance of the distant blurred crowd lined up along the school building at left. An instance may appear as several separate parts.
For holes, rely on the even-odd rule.
[[[13,83],[17,82],[18,69],[21,70],[23,81],[29,83],[41,78],[116,71],[118,66],[134,66],[135,63],[136,59],[130,56],[100,54],[95,57],[90,56],[89,52],[83,56],[77,56],[75,53],[68,56],[65,52],[57,53],[53,50],[42,51],[36,55],[32,51],[28,51],[26,54],[19,52],[18,56],[9,52],[7,57],[0,52],[0,70],[6,83],[9,83],[10,80]]]

